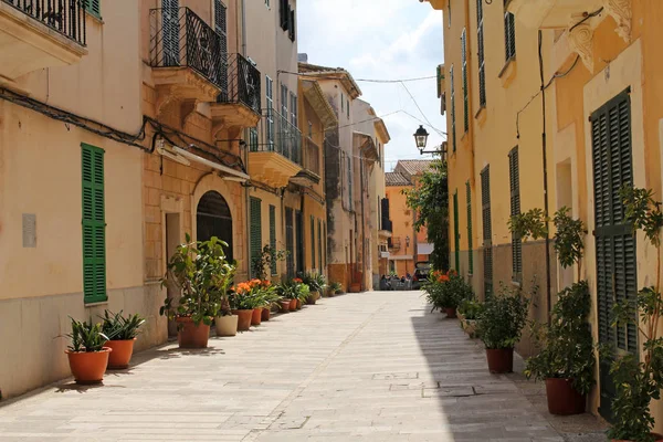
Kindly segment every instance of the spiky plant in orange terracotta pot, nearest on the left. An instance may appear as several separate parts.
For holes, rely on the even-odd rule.
[[[101,324],[72,320],[72,332],[66,335],[71,344],[66,356],[76,383],[99,383],[108,366],[108,355],[113,351],[104,345],[108,337],[102,332]]]

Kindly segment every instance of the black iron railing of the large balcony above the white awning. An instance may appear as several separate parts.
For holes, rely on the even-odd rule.
[[[228,84],[221,35],[189,8],[150,10],[150,65],[190,67],[219,88]]]

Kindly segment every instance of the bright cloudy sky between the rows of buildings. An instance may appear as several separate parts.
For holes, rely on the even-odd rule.
[[[298,51],[308,62],[344,67],[355,80],[403,80],[435,76],[443,63],[442,14],[418,0],[303,0],[297,2]],[[414,145],[420,124],[429,131],[428,148],[446,131],[440,115],[435,80],[400,83],[358,82],[361,99],[383,116],[391,135],[386,168],[399,159],[422,159]],[[418,106],[421,108],[419,110]],[[410,114],[410,115],[408,115]]]

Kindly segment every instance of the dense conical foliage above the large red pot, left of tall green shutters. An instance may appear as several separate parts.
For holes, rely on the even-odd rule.
[[[571,379],[573,388],[587,394],[594,385],[594,345],[588,315],[591,296],[587,281],[566,287],[550,315],[550,324],[535,329],[540,352],[529,359],[525,368],[527,378]]]

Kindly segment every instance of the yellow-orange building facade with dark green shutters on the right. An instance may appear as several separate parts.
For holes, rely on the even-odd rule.
[[[508,215],[514,210],[543,209],[546,202],[549,213],[568,207],[588,227],[582,277],[592,294],[594,338],[619,351],[641,351],[635,329],[617,333],[609,315],[614,294],[634,297],[640,287],[655,281],[655,251],[641,233],[633,236],[628,231],[618,193],[622,186],[632,185],[652,189],[661,199],[663,107],[657,97],[663,76],[656,48],[662,41],[663,4],[646,0],[430,3],[443,11],[444,23],[452,263],[460,250],[459,267],[467,275],[462,252],[474,251],[469,277],[481,297],[491,283],[495,287],[498,281],[508,280],[498,273],[498,260],[513,266],[520,259],[522,284],[527,287],[528,277],[546,274],[545,267],[537,271],[545,261],[545,244],[525,243],[520,257],[514,255]],[[517,192],[513,191],[514,168]],[[482,196],[487,170],[490,199]],[[475,198],[465,212],[461,207],[467,189]],[[474,228],[472,234],[469,225]],[[491,257],[487,244],[493,254],[492,275],[485,271],[484,256]],[[512,253],[499,252],[501,248]],[[571,283],[575,274],[556,269],[555,261],[550,254],[551,303],[556,287]],[[477,275],[483,276],[482,283],[475,281]],[[492,276],[488,284],[486,276]],[[546,282],[539,281],[539,293],[546,308],[535,316],[545,317],[549,308]],[[608,367],[597,367],[590,409],[610,418]],[[653,403],[652,411],[655,430],[661,431],[663,407]]]

